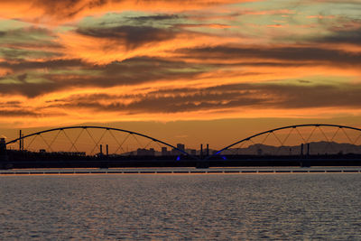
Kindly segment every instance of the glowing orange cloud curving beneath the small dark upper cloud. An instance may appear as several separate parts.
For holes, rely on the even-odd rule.
[[[143,42],[129,48],[125,39],[92,37],[76,32],[60,33],[60,43],[65,47],[63,54],[69,58],[80,58],[88,62],[106,64],[136,56],[171,57],[173,51],[181,48],[195,48],[220,42],[236,42],[236,38],[218,37],[198,32],[169,32],[169,36],[159,41]],[[134,42],[131,42],[134,44]],[[89,51],[91,49],[91,51]]]

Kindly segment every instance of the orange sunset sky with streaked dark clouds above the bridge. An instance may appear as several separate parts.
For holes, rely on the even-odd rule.
[[[0,134],[91,123],[220,148],[282,125],[360,127],[360,13],[360,0],[2,0]]]

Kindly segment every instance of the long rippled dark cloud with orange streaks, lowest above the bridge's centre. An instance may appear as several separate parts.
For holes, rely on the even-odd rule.
[[[245,91],[200,91],[191,88],[154,91],[146,95],[112,96],[106,94],[74,96],[52,103],[51,107],[85,107],[93,110],[138,113],[178,113],[220,107],[249,107],[261,104],[261,100]],[[123,104],[119,99],[137,99],[130,104]],[[109,103],[109,104],[101,104]]]

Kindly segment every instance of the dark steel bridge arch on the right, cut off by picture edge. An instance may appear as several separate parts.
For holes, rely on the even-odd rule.
[[[352,126],[347,126],[347,125],[332,125],[332,124],[303,124],[303,125],[287,125],[287,126],[282,126],[282,127],[279,127],[279,128],[274,128],[272,130],[268,130],[268,131],[265,131],[265,132],[261,132],[261,133],[258,133],[258,134],[254,134],[254,135],[251,135],[251,136],[248,136],[234,144],[230,144],[230,145],[227,145],[226,147],[220,149],[217,153],[214,153],[213,155],[210,155],[208,156],[208,158],[212,157],[212,156],[215,156],[215,155],[218,155],[219,153],[222,153],[224,151],[226,151],[227,149],[231,148],[232,146],[235,146],[236,144],[240,144],[240,143],[243,143],[245,141],[249,141],[250,139],[256,137],[256,136],[259,136],[259,135],[262,135],[262,134],[267,134],[267,133],[273,133],[275,131],[279,131],[279,130],[283,130],[283,129],[289,129],[289,128],[297,128],[297,127],[304,127],[304,126],[315,126],[315,127],[319,127],[319,126],[330,126],[330,127],[338,127],[338,128],[345,128],[345,129],[351,129],[351,130],[356,130],[356,131],[359,131],[361,132],[361,129],[360,128],[356,128],[356,127],[352,127]],[[208,159],[207,158],[207,159]]]

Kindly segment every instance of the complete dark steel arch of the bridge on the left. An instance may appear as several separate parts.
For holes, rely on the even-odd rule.
[[[183,153],[187,156],[190,156],[191,158],[194,158],[196,160],[198,160],[199,158],[197,158],[196,156],[193,156],[191,155],[190,153],[187,153],[183,150],[180,150],[179,148],[175,147],[174,145],[172,144],[167,144],[161,140],[158,140],[156,138],[153,138],[149,135],[146,135],[146,134],[140,134],[140,133],[137,133],[137,132],[133,132],[133,131],[128,131],[128,130],[124,130],[124,129],[119,129],[119,128],[113,128],[113,127],[106,127],[106,126],[97,126],[97,125],[77,125],[77,126],[67,126],[67,127],[58,127],[58,128],[52,128],[52,129],[49,129],[49,130],[45,130],[45,131],[41,131],[41,132],[36,132],[36,133],[32,133],[32,134],[27,134],[27,135],[24,135],[23,137],[19,137],[19,138],[16,138],[10,142],[7,142],[7,144],[14,144],[20,140],[23,140],[25,138],[28,138],[28,137],[31,137],[33,135],[36,135],[36,134],[43,134],[43,133],[49,133],[49,132],[54,132],[54,131],[62,131],[62,130],[68,130],[68,129],[103,129],[103,130],[112,130],[112,131],[117,131],[117,132],[124,132],[124,133],[128,133],[128,134],[136,134],[136,135],[139,135],[139,136],[142,136],[142,137],[145,137],[147,139],[150,139],[152,140],[153,142],[156,142],[156,143],[160,143],[160,144],[164,144],[164,145],[167,145],[177,151],[179,151],[180,153]]]

